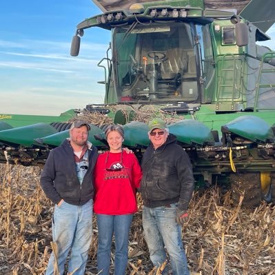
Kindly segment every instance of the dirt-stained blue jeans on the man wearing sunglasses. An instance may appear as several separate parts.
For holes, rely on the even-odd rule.
[[[170,207],[143,207],[143,230],[150,252],[150,259],[156,267],[170,257],[173,275],[189,275],[187,258],[181,240],[181,225],[176,223],[176,203]],[[162,274],[168,274],[166,266]]]

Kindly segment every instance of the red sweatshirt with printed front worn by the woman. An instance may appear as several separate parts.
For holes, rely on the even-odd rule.
[[[99,154],[94,168],[94,212],[107,215],[136,212],[136,188],[141,177],[141,167],[134,154],[124,150]]]

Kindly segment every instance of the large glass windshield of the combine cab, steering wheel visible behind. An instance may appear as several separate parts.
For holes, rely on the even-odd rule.
[[[138,25],[113,30],[115,87],[119,101],[198,100],[194,37],[189,23]]]

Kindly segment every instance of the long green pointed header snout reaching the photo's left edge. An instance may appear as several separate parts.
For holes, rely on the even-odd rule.
[[[46,123],[37,123],[34,125],[3,130],[0,132],[0,141],[2,143],[13,143],[17,145],[31,146],[34,139],[41,136],[49,136],[57,133],[57,130]]]

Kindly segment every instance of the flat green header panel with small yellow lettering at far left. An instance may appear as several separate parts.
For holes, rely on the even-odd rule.
[[[73,109],[63,112],[59,116],[39,116],[39,115],[27,115],[27,114],[0,114],[0,121],[5,121],[12,127],[22,127],[26,125],[32,125],[35,123],[52,123],[52,122],[64,122],[72,119],[77,114]]]

